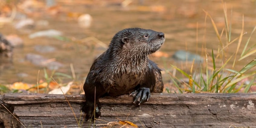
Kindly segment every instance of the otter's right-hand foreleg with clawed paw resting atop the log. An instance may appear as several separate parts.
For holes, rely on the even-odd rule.
[[[146,101],[149,101],[150,90],[152,86],[155,86],[155,74],[152,68],[146,72],[144,79],[140,83],[140,88],[133,91],[129,96],[133,96],[133,104],[143,104]]]

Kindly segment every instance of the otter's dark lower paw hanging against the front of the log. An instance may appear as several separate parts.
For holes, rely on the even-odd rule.
[[[100,104],[96,104],[95,107],[95,118],[98,118],[99,116],[101,116],[101,106]],[[85,112],[85,118],[86,120],[91,119],[92,117],[94,117],[94,102],[87,102],[85,101],[85,105],[82,107],[82,111]]]

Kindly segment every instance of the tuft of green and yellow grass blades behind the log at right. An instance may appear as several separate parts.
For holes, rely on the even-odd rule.
[[[213,20],[213,18],[210,16],[208,12],[203,10],[206,14],[206,18],[209,17],[211,20],[211,23],[213,25],[213,29],[216,33],[216,37],[219,40],[219,49],[217,50],[217,53],[214,53],[213,49],[211,50],[211,55],[208,55],[206,45],[204,45],[205,50],[205,67],[200,67],[199,70],[195,70],[193,72],[194,62],[191,65],[190,72],[187,73],[183,71],[182,69],[178,68],[177,66],[171,65],[174,70],[180,72],[182,75],[184,75],[188,81],[184,81],[181,79],[178,79],[175,77],[175,75],[171,75],[171,81],[173,85],[178,89],[179,93],[186,93],[186,92],[192,92],[192,93],[200,93],[200,92],[210,92],[210,93],[236,93],[236,92],[245,92],[248,93],[250,91],[251,86],[255,85],[255,78],[256,78],[256,71],[252,70],[253,67],[256,66],[256,58],[251,60],[248,64],[246,64],[242,69],[239,71],[234,70],[235,63],[237,61],[240,61],[242,59],[247,58],[248,56],[251,56],[252,54],[256,53],[256,50],[253,50],[253,48],[256,46],[254,44],[253,46],[248,48],[248,44],[250,42],[250,39],[252,37],[252,34],[256,30],[256,26],[251,32],[250,37],[248,38],[242,54],[240,58],[237,60],[237,54],[238,50],[241,49],[242,44],[242,38],[246,34],[244,33],[244,16],[242,16],[242,30],[239,37],[236,37],[232,40],[232,25],[231,22],[228,22],[228,16],[227,16],[227,8],[226,3],[223,4],[223,12],[224,12],[224,21],[225,21],[225,27],[222,29],[221,33],[219,34],[218,28]],[[231,11],[232,16],[232,11]],[[205,18],[205,22],[206,22]],[[231,20],[230,20],[231,21]],[[226,34],[226,43],[222,43],[225,41],[222,41],[222,35],[225,31]],[[197,32],[198,33],[198,32]],[[204,35],[205,37],[205,35]],[[203,38],[204,39],[204,38]],[[237,42],[237,48],[235,50],[235,53],[232,56],[226,56],[226,50],[228,46],[234,42]],[[210,58],[208,58],[208,56]],[[232,68],[226,68],[227,63],[232,60],[234,57],[234,61],[232,64]],[[220,64],[220,66],[218,65]],[[211,66],[210,66],[211,65]],[[248,79],[251,79],[248,83]],[[247,83],[245,83],[247,81]],[[168,90],[171,92],[170,90]]]

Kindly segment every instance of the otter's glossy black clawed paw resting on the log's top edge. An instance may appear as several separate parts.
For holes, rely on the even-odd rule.
[[[150,98],[150,89],[149,88],[139,88],[138,90],[133,91],[129,96],[133,96],[133,104],[142,104],[146,101],[149,101]]]

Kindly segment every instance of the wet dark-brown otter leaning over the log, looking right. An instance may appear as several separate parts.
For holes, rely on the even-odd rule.
[[[142,28],[121,30],[110,42],[107,51],[94,60],[84,84],[86,101],[82,110],[89,119],[101,115],[99,98],[129,94],[134,104],[150,98],[150,92],[161,93],[161,70],[148,59],[165,41],[164,33]],[[96,90],[95,90],[96,89]]]

